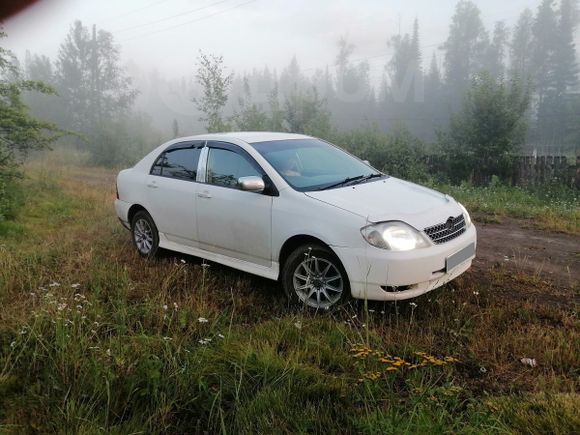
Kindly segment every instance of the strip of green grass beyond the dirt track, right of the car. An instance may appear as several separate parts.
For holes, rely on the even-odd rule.
[[[475,218],[497,222],[502,217],[533,220],[539,229],[580,234],[580,192],[563,186],[523,188],[492,183],[488,187],[469,184],[439,184],[434,189],[448,193]]]

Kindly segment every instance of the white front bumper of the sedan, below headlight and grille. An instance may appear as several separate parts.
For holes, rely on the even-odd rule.
[[[349,276],[351,294],[357,299],[396,301],[414,298],[457,278],[471,266],[475,256],[446,271],[446,259],[475,244],[474,225],[460,237],[441,245],[407,252],[375,248],[338,248]]]

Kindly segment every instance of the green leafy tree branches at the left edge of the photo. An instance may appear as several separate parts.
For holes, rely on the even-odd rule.
[[[0,39],[5,37],[0,29]],[[54,93],[40,81],[21,79],[14,56],[0,47],[0,219],[9,214],[9,185],[18,175],[18,164],[30,151],[48,148],[64,133],[28,113],[22,94],[31,91]]]

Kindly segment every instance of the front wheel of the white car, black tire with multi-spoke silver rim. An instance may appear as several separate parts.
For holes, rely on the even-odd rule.
[[[350,298],[348,276],[338,257],[319,244],[302,245],[282,269],[282,286],[292,305],[329,310]]]

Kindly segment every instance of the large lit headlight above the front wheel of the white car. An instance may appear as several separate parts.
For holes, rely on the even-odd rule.
[[[377,248],[410,251],[427,248],[429,242],[415,228],[403,222],[383,222],[361,228],[365,240]]]

